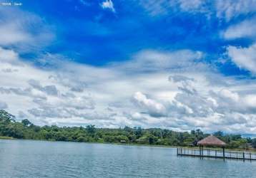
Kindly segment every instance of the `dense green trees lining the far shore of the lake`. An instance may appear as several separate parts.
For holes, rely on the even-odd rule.
[[[107,129],[96,128],[94,125],[87,127],[57,127],[55,125],[39,127],[27,119],[16,122],[14,115],[0,110],[0,136],[17,139],[187,146],[196,145],[198,140],[208,135],[199,129],[189,133],[159,128],[142,129],[141,127]],[[226,142],[229,148],[251,146],[256,148],[256,139],[242,138],[241,135],[224,135],[220,131],[215,132],[214,135]]]

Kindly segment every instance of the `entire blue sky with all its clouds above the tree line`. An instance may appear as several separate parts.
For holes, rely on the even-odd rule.
[[[256,133],[256,0],[15,3],[0,109],[16,120]]]

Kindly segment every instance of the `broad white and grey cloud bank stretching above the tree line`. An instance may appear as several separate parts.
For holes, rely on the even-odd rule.
[[[200,65],[197,51],[142,51],[131,61],[103,67],[64,61],[54,70],[36,68],[15,51],[0,51],[0,98],[17,119],[26,116],[39,125],[256,132],[256,93],[248,90],[255,81],[213,72]],[[195,66],[200,68],[191,70]]]

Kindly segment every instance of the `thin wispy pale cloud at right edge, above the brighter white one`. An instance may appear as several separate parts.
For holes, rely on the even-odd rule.
[[[227,30],[223,33],[223,37],[226,39],[255,38],[255,31],[256,19],[254,18],[228,27]]]

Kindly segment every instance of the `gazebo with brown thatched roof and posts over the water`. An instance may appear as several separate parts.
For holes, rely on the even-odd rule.
[[[225,146],[226,143],[222,142],[222,140],[218,139],[217,137],[210,135],[208,137],[205,137],[204,139],[197,142],[197,145],[200,147],[200,156],[203,156],[203,147],[204,146],[216,146],[216,147],[222,147],[223,149],[223,159],[225,159]]]

